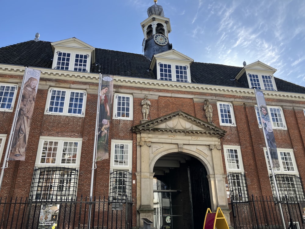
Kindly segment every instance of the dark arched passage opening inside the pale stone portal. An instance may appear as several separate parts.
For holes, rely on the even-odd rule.
[[[156,162],[154,173],[156,229],[203,228],[211,208],[204,165],[185,154],[169,154]]]

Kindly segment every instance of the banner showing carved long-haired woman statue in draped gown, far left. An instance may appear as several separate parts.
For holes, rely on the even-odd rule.
[[[20,90],[21,97],[18,99],[19,104],[16,107],[16,112],[18,113],[13,123],[14,131],[9,160],[25,160],[40,71],[26,68],[23,78],[23,85]]]

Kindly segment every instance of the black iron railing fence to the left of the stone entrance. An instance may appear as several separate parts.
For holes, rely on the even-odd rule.
[[[132,229],[132,205],[127,198],[124,202],[105,197],[60,202],[0,198],[0,229]]]

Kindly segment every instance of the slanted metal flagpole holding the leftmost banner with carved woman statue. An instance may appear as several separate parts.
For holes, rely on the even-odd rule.
[[[17,106],[16,106],[16,110],[15,110],[13,124],[12,124],[12,128],[11,128],[11,132],[9,134],[9,141],[7,142],[5,156],[4,156],[3,164],[2,164],[2,167],[1,167],[0,190],[1,190],[1,187],[2,187],[2,181],[3,181],[3,176],[4,176],[4,169],[6,169],[8,167],[9,152],[11,150],[12,137],[13,137],[15,126],[16,126],[16,119],[17,119],[17,115],[18,115],[18,112],[19,112],[21,96],[22,96],[22,92],[23,92],[23,84],[24,84],[24,79],[25,79],[26,75],[27,75],[27,66],[25,66],[25,69],[24,69],[24,75],[23,75],[23,79],[22,79],[22,83],[21,83],[21,89],[20,89],[20,93],[19,93],[19,97],[18,97],[18,102],[17,102]]]

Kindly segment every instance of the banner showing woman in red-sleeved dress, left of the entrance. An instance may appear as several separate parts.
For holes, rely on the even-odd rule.
[[[98,98],[96,160],[108,158],[109,128],[113,97],[113,75],[102,75]]]

